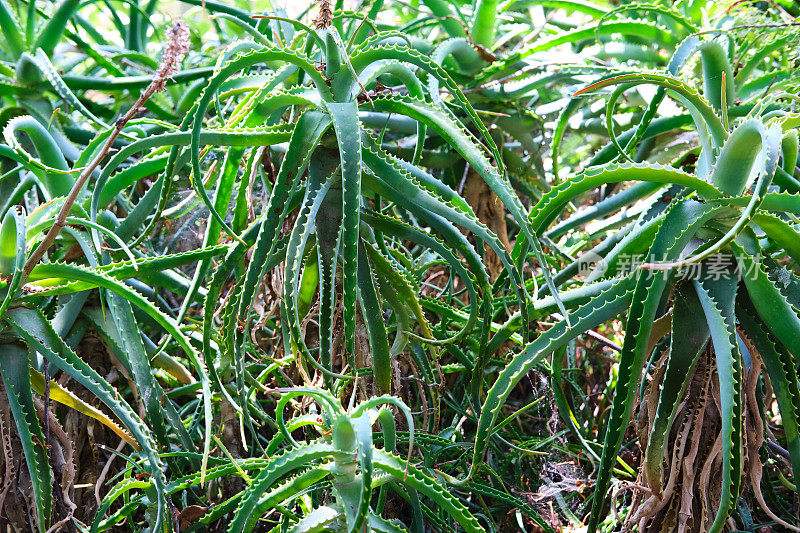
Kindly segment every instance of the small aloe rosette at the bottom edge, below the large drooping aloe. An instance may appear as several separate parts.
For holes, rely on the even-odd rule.
[[[434,505],[445,510],[447,514],[465,531],[480,531],[477,520],[467,511],[461,502],[449,494],[438,482],[408,463],[406,460],[392,453],[392,443],[395,440],[394,416],[386,408],[380,409],[381,404],[395,406],[405,415],[410,429],[410,447],[414,444],[414,427],[411,412],[397,399],[388,396],[371,398],[349,412],[345,412],[338,400],[330,393],[322,390],[304,390],[293,388],[285,391],[278,402],[280,409],[300,395],[314,398],[321,408],[322,417],[307,418],[304,420],[283,422],[278,415],[281,433],[275,440],[286,439],[292,442],[289,427],[298,424],[314,424],[321,426],[319,429],[325,436],[326,444],[307,443],[298,445],[278,455],[270,461],[252,480],[248,489],[242,495],[241,501],[234,513],[234,518],[229,526],[229,531],[251,530],[257,519],[258,513],[269,510],[269,503],[265,505],[267,490],[272,489],[274,480],[284,472],[296,470],[298,467],[308,469],[311,461],[319,465],[318,468],[305,470],[300,476],[308,478],[313,472],[313,477],[322,479],[330,475],[333,481],[334,501],[326,506],[317,507],[295,526],[296,531],[305,531],[312,528],[324,528],[330,531],[404,531],[405,527],[398,522],[382,519],[375,510],[371,509],[370,500],[376,489],[380,491],[378,499],[378,512],[383,507],[386,494],[385,489],[392,487],[399,490],[403,498],[418,498],[419,491],[431,499]],[[384,448],[376,449],[373,444],[371,426],[375,421],[381,424]],[[272,444],[272,443],[271,443]],[[331,461],[332,460],[332,461]],[[377,474],[377,475],[376,475]],[[286,500],[292,491],[302,487],[297,479],[291,479],[286,490],[277,489],[284,494],[275,497],[266,495],[266,501]],[[274,504],[272,504],[274,505]],[[257,511],[256,511],[257,510]]]

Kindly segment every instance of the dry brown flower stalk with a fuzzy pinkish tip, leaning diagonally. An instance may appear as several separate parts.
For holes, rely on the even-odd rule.
[[[67,223],[67,216],[69,216],[69,212],[72,210],[72,205],[78,198],[78,194],[80,194],[81,189],[83,189],[83,186],[86,184],[89,176],[92,175],[92,172],[94,172],[100,163],[103,162],[103,159],[105,159],[105,157],[108,155],[112,145],[114,144],[114,141],[117,140],[117,137],[122,132],[122,129],[133,117],[136,116],[137,113],[139,113],[144,103],[151,96],[164,90],[167,79],[172,77],[172,75],[177,72],[180,62],[183,59],[183,55],[189,49],[188,35],[189,28],[183,21],[177,21],[167,32],[168,41],[164,45],[161,64],[159,65],[156,73],[153,75],[153,81],[150,82],[150,85],[148,85],[144,92],[142,92],[133,106],[128,109],[128,112],[114,123],[114,129],[111,131],[111,135],[108,136],[103,148],[94,157],[94,159],[92,159],[91,163],[89,163],[81,171],[81,175],[78,177],[78,179],[75,181],[75,185],[73,185],[72,189],[69,191],[69,195],[67,195],[66,199],[64,200],[64,204],[61,206],[61,210],[58,212],[58,216],[56,217],[53,225],[50,227],[50,230],[45,235],[44,240],[39,243],[39,246],[36,247],[31,256],[25,262],[25,266],[22,269],[20,285],[25,284],[25,281],[28,279],[28,276],[30,276],[34,267],[39,264],[39,261],[42,260],[44,254],[47,253],[47,250],[49,250],[55,242],[56,237],[58,237],[58,234]]]

